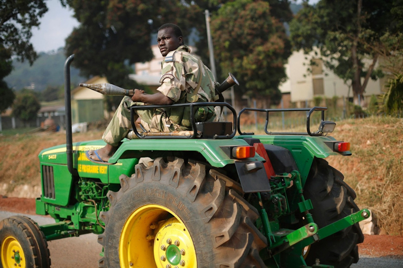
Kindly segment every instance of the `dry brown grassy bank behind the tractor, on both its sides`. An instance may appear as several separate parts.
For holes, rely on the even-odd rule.
[[[249,130],[254,131],[253,128],[252,125]],[[73,141],[101,136],[102,131],[77,133],[73,134]],[[357,192],[359,207],[373,211],[383,233],[402,235],[403,119],[345,120],[338,122],[332,136],[351,143],[352,156],[331,156],[326,160],[345,175],[346,182]],[[64,143],[64,133],[0,136],[0,183],[40,185],[39,152]]]

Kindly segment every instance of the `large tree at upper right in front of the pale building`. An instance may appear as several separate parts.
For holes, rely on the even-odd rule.
[[[391,13],[399,7],[401,0],[321,0],[315,6],[305,1],[290,23],[290,39],[296,50],[305,53],[317,47],[320,54],[314,57],[352,86],[358,104],[369,78],[383,75],[375,65],[384,42],[392,40],[388,36],[399,32],[399,13]]]

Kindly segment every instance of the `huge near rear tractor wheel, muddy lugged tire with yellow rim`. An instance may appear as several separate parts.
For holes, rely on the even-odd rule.
[[[229,177],[201,163],[157,158],[108,192],[99,267],[265,267],[257,210]]]

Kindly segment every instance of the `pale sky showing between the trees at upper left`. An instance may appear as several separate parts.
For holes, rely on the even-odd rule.
[[[310,4],[319,0],[310,0]],[[300,3],[301,0],[297,0]],[[33,28],[31,43],[37,52],[49,52],[64,47],[64,40],[70,35],[79,22],[73,18],[73,10],[63,8],[59,0],[46,1],[48,12],[40,19],[38,28]]]

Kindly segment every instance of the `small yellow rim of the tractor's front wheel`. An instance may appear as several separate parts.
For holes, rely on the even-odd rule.
[[[5,268],[23,267],[25,268],[25,255],[22,246],[17,239],[7,236],[2,243],[1,256],[2,264]]]

